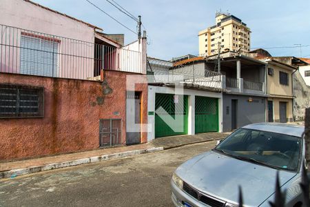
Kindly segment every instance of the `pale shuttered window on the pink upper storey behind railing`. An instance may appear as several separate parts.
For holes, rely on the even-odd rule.
[[[21,32],[21,74],[58,77],[60,41]]]

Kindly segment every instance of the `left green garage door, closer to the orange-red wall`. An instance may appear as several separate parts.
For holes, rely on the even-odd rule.
[[[157,110],[159,107],[163,107],[165,111],[169,114],[169,116],[172,116],[175,118],[175,115],[183,115],[183,132],[174,132],[172,128],[166,124],[166,122],[169,119],[161,119],[161,117],[158,116],[158,114],[155,114],[155,137],[167,137],[167,136],[173,136],[173,135],[186,135],[187,134],[187,109],[188,109],[188,101],[187,96],[184,95],[183,99],[181,99],[182,96],[178,95],[178,97],[174,97],[172,94],[157,94],[155,97],[155,110]],[[178,101],[178,103],[183,104],[183,109],[180,104],[175,104],[174,102]],[[162,114],[163,115],[163,114]],[[176,121],[173,121],[170,124],[181,124],[176,123]]]

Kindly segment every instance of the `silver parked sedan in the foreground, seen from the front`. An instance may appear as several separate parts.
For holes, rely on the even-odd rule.
[[[251,124],[239,128],[211,151],[179,166],[172,176],[176,206],[238,206],[240,186],[244,206],[270,206],[276,173],[285,206],[302,206],[301,165],[304,127]]]

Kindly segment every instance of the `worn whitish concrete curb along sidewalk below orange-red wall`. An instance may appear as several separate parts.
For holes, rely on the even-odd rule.
[[[127,152],[117,152],[117,153],[110,154],[110,155],[99,155],[99,156],[87,157],[83,159],[75,159],[72,161],[62,161],[62,162],[55,163],[55,164],[46,164],[42,166],[33,166],[29,168],[6,170],[6,171],[0,172],[0,179],[8,178],[8,177],[13,178],[13,177],[17,177],[20,175],[31,174],[34,172],[42,172],[42,171],[65,168],[65,167],[70,167],[70,166],[79,166],[82,164],[90,164],[90,163],[95,163],[95,162],[105,161],[105,160],[110,160],[110,159],[130,157],[133,155],[141,155],[145,153],[159,152],[162,150],[164,150],[163,147],[149,148],[149,149],[143,149],[143,150],[132,150],[132,151],[127,151]]]

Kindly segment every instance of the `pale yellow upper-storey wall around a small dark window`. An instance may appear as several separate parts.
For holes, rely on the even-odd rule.
[[[293,96],[291,86],[291,74],[293,70],[286,69],[285,66],[276,66],[269,62],[268,68],[273,68],[273,75],[267,74],[267,93],[269,95],[282,95],[282,96]],[[289,77],[289,85],[285,86],[280,84],[279,72],[287,72]]]

